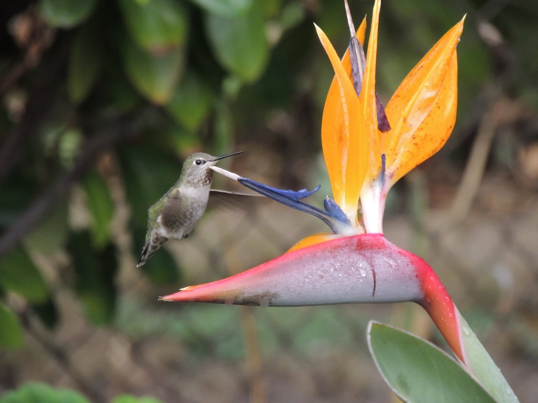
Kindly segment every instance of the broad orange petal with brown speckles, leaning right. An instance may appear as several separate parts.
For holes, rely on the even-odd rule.
[[[380,134],[390,185],[435,154],[456,121],[456,46],[465,17],[451,28],[402,81],[385,109],[392,130]]]

